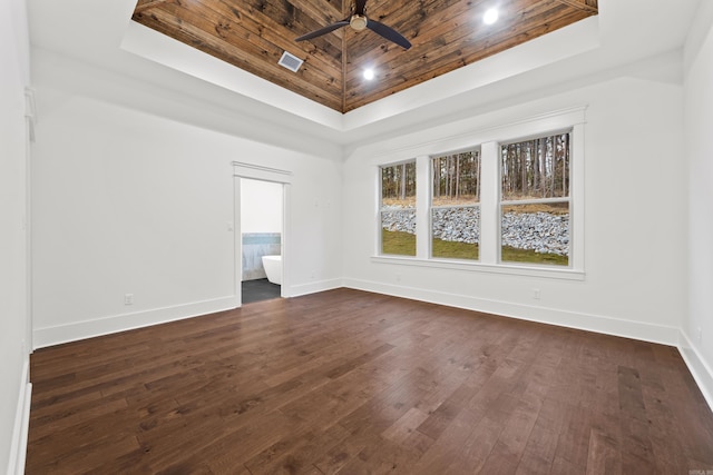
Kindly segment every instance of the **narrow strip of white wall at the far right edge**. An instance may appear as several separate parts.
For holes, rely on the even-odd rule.
[[[713,4],[701,2],[686,44],[688,313],[682,347],[713,405]]]

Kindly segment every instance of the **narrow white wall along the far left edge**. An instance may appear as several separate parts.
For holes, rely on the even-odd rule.
[[[0,471],[21,469],[29,342],[25,1],[0,2]]]

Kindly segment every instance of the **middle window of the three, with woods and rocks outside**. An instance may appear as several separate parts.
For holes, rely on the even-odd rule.
[[[480,241],[480,151],[431,159],[431,256],[477,260]]]

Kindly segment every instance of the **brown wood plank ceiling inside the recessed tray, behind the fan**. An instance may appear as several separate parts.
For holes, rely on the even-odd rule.
[[[499,20],[486,26],[485,11]],[[597,0],[369,0],[365,14],[409,50],[350,27],[353,0],[138,0],[133,20],[342,113],[597,14]],[[304,60],[279,65],[283,51]],[[363,78],[373,68],[375,78]]]

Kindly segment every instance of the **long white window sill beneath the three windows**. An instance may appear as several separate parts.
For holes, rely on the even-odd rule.
[[[372,263],[398,264],[403,266],[430,267],[437,269],[465,270],[470,273],[505,274],[525,277],[543,277],[548,279],[584,280],[584,270],[570,268],[550,268],[539,266],[524,266],[516,264],[481,264],[463,260],[420,259],[418,257],[372,256]]]

